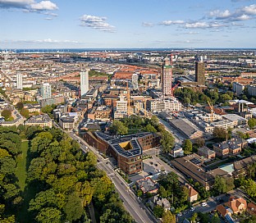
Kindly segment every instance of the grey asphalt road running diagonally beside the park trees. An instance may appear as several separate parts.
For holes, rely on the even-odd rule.
[[[93,147],[90,147],[89,144],[87,144],[83,139],[78,137],[76,134],[70,133],[70,135],[71,138],[80,140],[82,150],[87,152],[86,147],[88,147],[90,151],[94,152],[98,159],[98,168],[103,171],[106,171],[108,177],[112,180],[113,184],[115,184],[117,193],[119,193],[120,198],[122,199],[127,212],[130,213],[130,215],[134,218],[136,222],[158,222],[154,218],[154,216],[149,212],[149,210],[146,207],[144,207],[144,203],[140,203],[139,199],[130,190],[129,186],[121,178],[121,176],[118,175],[117,172],[112,169],[112,166],[110,166],[107,160],[103,159],[103,157],[100,156]]]

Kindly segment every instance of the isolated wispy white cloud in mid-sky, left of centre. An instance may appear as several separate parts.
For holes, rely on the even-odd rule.
[[[116,27],[108,24],[106,20],[106,17],[84,15],[80,17],[80,25],[87,26],[96,30],[114,32]]]

